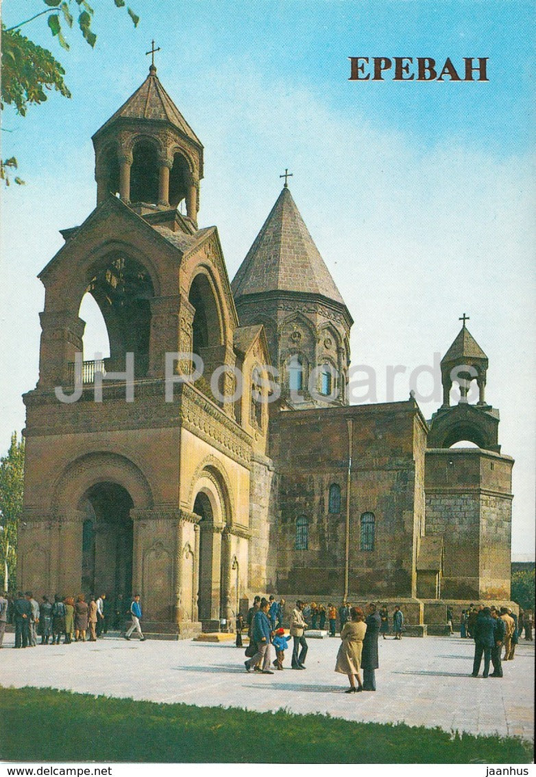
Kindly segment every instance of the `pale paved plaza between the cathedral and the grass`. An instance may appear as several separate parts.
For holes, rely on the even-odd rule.
[[[521,640],[504,678],[470,677],[473,643],[451,637],[379,640],[375,693],[344,694],[335,674],[340,640],[309,639],[306,671],[247,674],[244,650],[233,643],[189,640],[36,646],[0,651],[0,683],[68,688],[154,702],[232,706],[259,712],[329,713],[347,720],[404,722],[444,730],[534,738],[534,643]],[[285,661],[289,664],[289,650]]]

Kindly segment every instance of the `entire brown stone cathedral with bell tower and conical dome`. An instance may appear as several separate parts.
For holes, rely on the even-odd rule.
[[[514,462],[465,315],[431,420],[413,395],[351,406],[353,319],[287,177],[230,282],[198,224],[202,142],[154,64],[92,140],[95,210],[40,273],[22,588],[139,592],[144,630],[182,638],[258,593],[402,603],[420,633],[507,601]],[[83,354],[85,294],[104,359]]]

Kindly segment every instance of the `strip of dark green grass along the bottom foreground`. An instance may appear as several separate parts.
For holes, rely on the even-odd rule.
[[[324,715],[134,702],[0,687],[0,759],[156,763],[530,763],[519,739]],[[88,743],[99,742],[99,747]],[[89,752],[88,752],[89,749]]]

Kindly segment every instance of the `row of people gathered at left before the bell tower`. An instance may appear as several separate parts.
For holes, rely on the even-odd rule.
[[[92,595],[86,601],[85,594],[62,597],[46,594],[41,601],[34,598],[31,591],[19,591],[16,597],[8,598],[5,591],[0,592],[0,648],[8,623],[15,627],[15,647],[35,647],[40,639],[41,645],[69,645],[74,642],[96,642],[108,632],[108,629],[123,629],[125,619],[130,617],[131,625],[125,633],[130,639],[136,629],[140,639],[145,639],[140,629],[141,605],[136,594],[128,610],[123,595],[118,594],[113,606],[106,594]]]

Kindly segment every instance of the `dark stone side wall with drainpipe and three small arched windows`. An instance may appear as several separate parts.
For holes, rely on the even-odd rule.
[[[274,424],[280,446],[278,591],[307,591],[309,598],[344,594],[351,423],[348,591],[414,596],[423,503],[416,418],[425,429],[413,401],[280,413]],[[329,509],[331,484],[341,487],[337,513]],[[361,545],[365,513],[375,517],[372,549]],[[300,517],[308,521],[306,549],[296,549]]]

